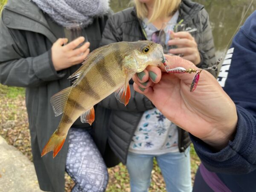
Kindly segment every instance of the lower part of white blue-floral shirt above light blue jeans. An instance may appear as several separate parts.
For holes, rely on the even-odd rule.
[[[145,111],[131,140],[129,151],[139,154],[177,152],[177,126],[157,108]]]

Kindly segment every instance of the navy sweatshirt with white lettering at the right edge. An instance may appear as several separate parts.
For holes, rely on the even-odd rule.
[[[236,104],[238,124],[233,141],[215,152],[191,136],[195,150],[212,172],[243,174],[256,170],[256,12],[233,39],[218,82]]]

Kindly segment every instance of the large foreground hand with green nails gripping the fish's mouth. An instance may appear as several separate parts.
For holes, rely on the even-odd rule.
[[[161,70],[154,66],[144,70],[156,74],[154,82],[148,78],[150,75],[142,80],[137,75],[133,76],[134,90],[147,96],[164,116],[179,127],[216,149],[223,148],[233,139],[236,130],[238,117],[235,104],[210,73],[183,58],[165,57],[169,67],[193,67],[201,71],[196,91],[189,91],[194,75],[165,73],[163,66]],[[146,81],[150,83],[146,86],[141,84]]]

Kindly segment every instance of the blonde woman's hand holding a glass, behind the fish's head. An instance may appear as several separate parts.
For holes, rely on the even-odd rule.
[[[169,53],[174,55],[183,55],[182,58],[191,61],[197,65],[201,62],[201,57],[198,51],[198,45],[195,38],[186,31],[173,32],[170,31],[172,39],[168,41],[168,45],[176,45],[177,48],[170,49]]]

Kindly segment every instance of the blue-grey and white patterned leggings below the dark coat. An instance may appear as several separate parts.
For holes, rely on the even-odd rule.
[[[104,192],[108,169],[88,131],[71,128],[66,171],[76,185],[72,192]]]

